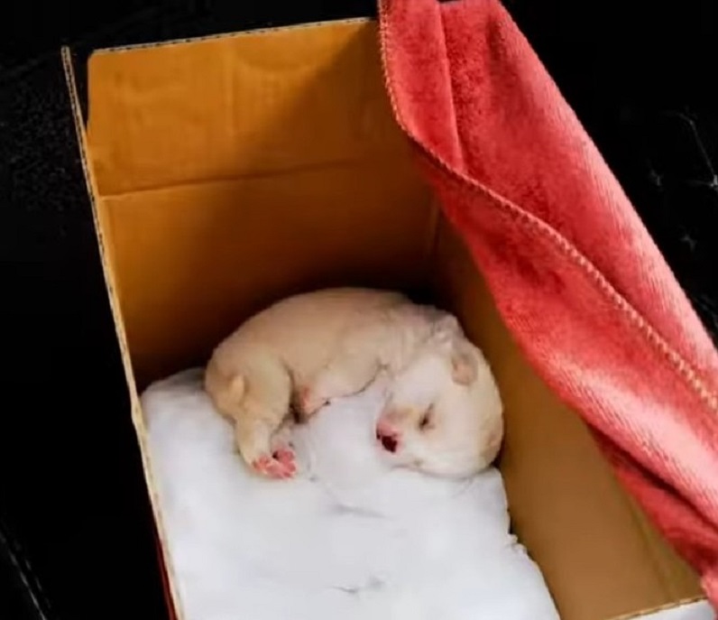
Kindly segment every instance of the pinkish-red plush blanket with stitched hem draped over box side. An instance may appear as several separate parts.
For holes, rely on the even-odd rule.
[[[497,0],[380,0],[397,119],[548,385],[718,606],[718,353]]]

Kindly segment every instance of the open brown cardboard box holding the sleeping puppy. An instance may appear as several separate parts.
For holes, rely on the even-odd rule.
[[[71,84],[69,55],[66,68]],[[138,393],[205,362],[272,301],[372,285],[455,311],[489,357],[506,405],[513,527],[563,618],[631,617],[700,596],[582,421],[511,342],[394,122],[375,23],[97,51],[87,88],[78,131],[160,540]]]

